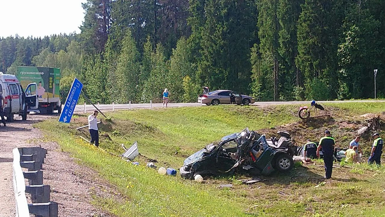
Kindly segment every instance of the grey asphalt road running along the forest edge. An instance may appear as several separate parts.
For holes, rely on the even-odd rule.
[[[321,103],[341,103],[341,102],[385,102],[385,100],[348,100],[348,101],[317,101]],[[290,104],[310,104],[309,101],[290,101],[290,102],[255,102],[251,105],[290,105]],[[96,105],[97,106],[97,105]],[[201,103],[168,103],[168,107],[188,107],[188,106],[201,106]],[[206,106],[205,104],[202,104],[202,106]],[[100,104],[99,109],[100,110],[112,110],[113,105],[112,104]],[[143,103],[143,104],[115,104],[115,109],[129,109],[129,108],[159,108],[162,107],[162,103]],[[95,110],[95,107],[93,107],[90,104],[87,104],[85,106],[86,111]],[[82,112],[84,111],[84,105],[77,105],[75,107],[75,112]]]

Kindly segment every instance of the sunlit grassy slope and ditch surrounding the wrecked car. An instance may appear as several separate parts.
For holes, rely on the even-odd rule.
[[[356,115],[378,113],[384,109],[380,103],[326,106],[330,107],[335,119],[349,120]],[[97,197],[94,200],[96,205],[117,216],[344,216],[355,212],[363,215],[380,213],[383,210],[384,170],[366,164],[337,168],[333,170],[335,179],[325,183],[321,179],[324,175],[322,167],[297,164],[288,174],[260,177],[261,182],[250,186],[240,184],[236,180],[238,175],[211,177],[205,184],[197,184],[179,176],[161,176],[143,166],[149,159],[155,159],[158,167],[177,169],[188,155],[244,127],[274,132],[280,128],[278,125],[297,122],[297,109],[297,105],[217,106],[110,113],[111,120],[103,120],[100,127],[103,150],[77,139],[78,132],[74,128],[87,123],[85,116],[75,116],[70,125],[46,120],[37,127],[57,141],[65,152],[117,186],[125,196],[120,201]],[[330,127],[334,127],[335,132],[340,129],[336,122],[326,121],[315,130]],[[338,132],[343,133],[343,130],[351,133],[345,128]],[[296,137],[305,139],[306,135],[301,135],[301,132],[297,130]],[[308,132],[303,131],[303,134]],[[136,160],[141,165],[131,165],[109,154],[121,154],[119,144],[129,146],[135,140],[142,155]],[[219,184],[228,183],[232,183],[233,188],[217,188]]]

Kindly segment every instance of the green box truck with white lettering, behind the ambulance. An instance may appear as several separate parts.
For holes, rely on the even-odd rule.
[[[18,66],[16,76],[24,88],[29,83],[36,83],[36,88],[28,88],[25,92],[38,95],[39,108],[28,111],[52,114],[57,110],[60,114],[60,68]]]

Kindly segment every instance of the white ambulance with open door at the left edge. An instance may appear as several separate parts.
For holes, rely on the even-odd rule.
[[[30,83],[26,90],[36,92],[36,88],[36,83]],[[22,116],[23,120],[27,120],[27,110],[37,109],[39,106],[37,95],[27,95],[15,75],[0,72],[0,93],[5,98],[4,115],[7,122],[13,120],[13,115]]]

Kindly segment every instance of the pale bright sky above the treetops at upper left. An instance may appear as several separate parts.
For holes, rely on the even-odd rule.
[[[86,0],[0,0],[0,37],[80,33]]]

